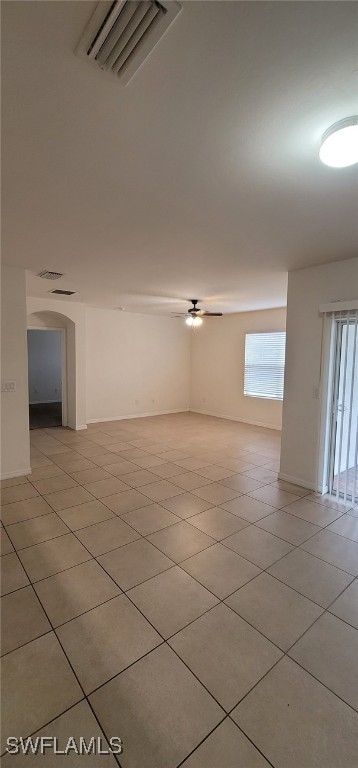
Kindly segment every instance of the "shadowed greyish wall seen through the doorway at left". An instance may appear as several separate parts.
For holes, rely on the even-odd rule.
[[[61,331],[27,331],[29,401],[61,401]]]

